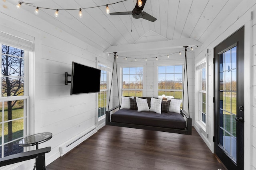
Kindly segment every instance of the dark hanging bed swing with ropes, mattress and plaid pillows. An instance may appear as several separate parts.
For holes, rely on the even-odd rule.
[[[184,77],[185,80],[185,70],[186,70],[186,82],[187,82],[187,93],[188,93],[188,70],[187,70],[187,51],[188,46],[184,46],[185,48],[185,63],[184,63]],[[113,72],[114,66],[116,66],[116,52],[114,53],[114,64],[113,64]],[[112,80],[113,80],[113,72],[112,72]],[[117,68],[116,68],[117,74]],[[117,82],[118,76],[116,75]],[[112,87],[112,80],[111,80],[111,87]],[[184,82],[184,81],[183,81]],[[118,83],[117,83],[118,88]],[[111,94],[111,88],[110,88]],[[184,83],[183,83],[183,97],[182,102],[184,106]],[[124,100],[124,101],[123,101]],[[119,105],[113,107],[111,109],[108,108],[106,111],[106,125],[111,126],[119,126],[119,127],[130,127],[136,129],[145,129],[145,130],[152,130],[152,131],[163,131],[163,132],[170,132],[170,133],[179,133],[184,135],[191,135],[192,134],[192,119],[190,117],[189,112],[189,102],[188,102],[188,113],[183,109],[180,109],[180,106],[177,111],[170,112],[170,103],[176,102],[176,99],[171,99],[170,102],[165,102],[167,98],[162,99],[161,112],[160,114],[154,112],[152,110],[152,102],[156,102],[158,98],[151,98],[151,97],[124,97],[122,96],[122,105],[120,105],[120,98],[119,98],[119,90],[118,90],[118,102]],[[137,101],[137,102],[136,102]],[[146,102],[145,102],[146,101]],[[158,100],[159,102],[159,100]],[[140,106],[145,106],[145,103],[148,105],[148,109],[143,109],[146,111],[141,111],[138,109]],[[169,107],[163,107],[168,106]],[[110,105],[110,98],[108,101],[108,106]],[[147,106],[145,106],[147,107]],[[149,110],[150,108],[150,110]],[[159,107],[158,107],[159,109]],[[112,113],[114,112],[114,113]],[[169,112],[169,113],[168,113]]]

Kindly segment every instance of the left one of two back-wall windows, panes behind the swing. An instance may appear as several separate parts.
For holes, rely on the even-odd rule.
[[[122,96],[142,97],[143,67],[122,68]]]

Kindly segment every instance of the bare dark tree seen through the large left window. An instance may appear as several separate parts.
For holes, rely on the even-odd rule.
[[[4,55],[5,54],[5,55]],[[2,96],[24,94],[24,51],[2,45]],[[12,120],[12,107],[17,101],[8,101],[8,120]],[[8,141],[13,140],[12,121],[8,121]],[[8,144],[8,151],[13,150],[13,143]]]

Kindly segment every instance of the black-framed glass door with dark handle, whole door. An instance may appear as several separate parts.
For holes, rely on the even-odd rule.
[[[214,153],[244,169],[244,27],[214,47]]]

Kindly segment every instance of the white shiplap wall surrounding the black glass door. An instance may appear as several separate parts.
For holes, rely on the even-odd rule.
[[[245,26],[245,99],[244,103],[244,169],[255,170],[256,169],[256,104],[254,97],[256,97],[256,5],[252,0],[243,0],[239,8],[235,8],[234,11],[226,18],[226,20],[212,33],[210,37],[200,46],[195,52],[195,64],[204,57],[207,49],[208,53],[208,125],[207,133],[200,133],[199,125],[194,123],[195,129],[198,131],[202,139],[208,145],[210,150],[214,152],[214,143],[212,142],[212,135],[214,134],[214,105],[212,103],[212,97],[214,96],[214,89],[211,84],[214,82],[214,66],[213,66],[213,49],[216,45],[224,41],[232,33],[237,31],[240,27]],[[251,12],[253,12],[254,19],[251,20]],[[252,59],[252,62],[250,61]],[[248,61],[249,60],[249,61]],[[248,64],[249,63],[249,64]],[[252,66],[250,66],[252,63]],[[250,105],[252,104],[252,105]],[[251,119],[252,117],[252,119]]]

